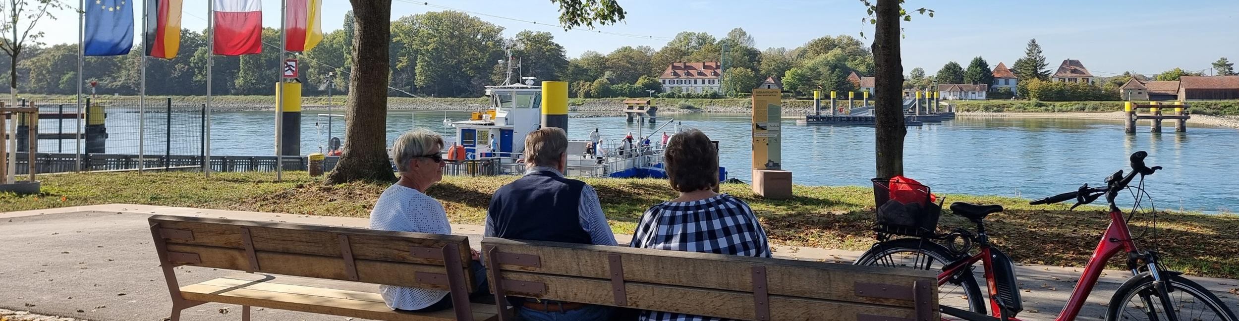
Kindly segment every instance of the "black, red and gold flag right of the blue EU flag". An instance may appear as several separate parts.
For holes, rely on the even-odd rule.
[[[146,56],[171,59],[181,48],[181,1],[150,0],[146,4]]]

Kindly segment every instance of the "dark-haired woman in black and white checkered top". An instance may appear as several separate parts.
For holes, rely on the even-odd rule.
[[[668,182],[680,196],[646,209],[632,235],[633,248],[771,257],[766,231],[748,203],[717,192],[719,150],[710,138],[696,129],[673,135],[667,143],[665,169]],[[642,311],[641,320],[724,319]]]

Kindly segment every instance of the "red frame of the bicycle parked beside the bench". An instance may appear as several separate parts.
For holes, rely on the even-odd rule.
[[[981,262],[985,266],[985,280],[990,292],[990,311],[994,317],[1001,319],[1002,310],[999,307],[997,300],[994,300],[999,295],[999,288],[994,278],[994,262],[990,259],[990,245],[983,244],[980,253],[976,255],[955,260],[943,268],[943,271],[938,274],[938,285],[945,284],[952,275],[957,273],[971,273],[968,268],[978,262]],[[1131,232],[1127,228],[1127,221],[1123,217],[1121,211],[1110,211],[1110,226],[1106,227],[1105,234],[1101,234],[1101,240],[1098,242],[1097,249],[1093,250],[1093,257],[1089,259],[1088,264],[1084,265],[1084,273],[1080,274],[1079,281],[1075,283],[1075,289],[1072,290],[1072,296],[1067,299],[1067,305],[1063,311],[1058,314],[1056,321],[1073,321],[1075,316],[1079,315],[1080,309],[1084,307],[1085,299],[1093,291],[1093,286],[1097,285],[1099,278],[1101,278],[1101,271],[1105,269],[1105,263],[1119,254],[1120,250],[1127,253],[1137,253],[1136,243],[1131,240]],[[1150,266],[1152,268],[1152,265]],[[1155,271],[1156,273],[1156,271]],[[1009,317],[1011,321],[1020,321],[1020,319]]]

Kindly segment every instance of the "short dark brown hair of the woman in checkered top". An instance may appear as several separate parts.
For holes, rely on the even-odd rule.
[[[690,129],[667,141],[667,178],[680,192],[719,185],[719,149],[701,130]]]

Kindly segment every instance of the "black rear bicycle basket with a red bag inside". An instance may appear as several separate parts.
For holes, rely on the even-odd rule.
[[[929,186],[888,178],[873,178],[878,233],[929,237],[938,229],[942,203],[934,203]]]

